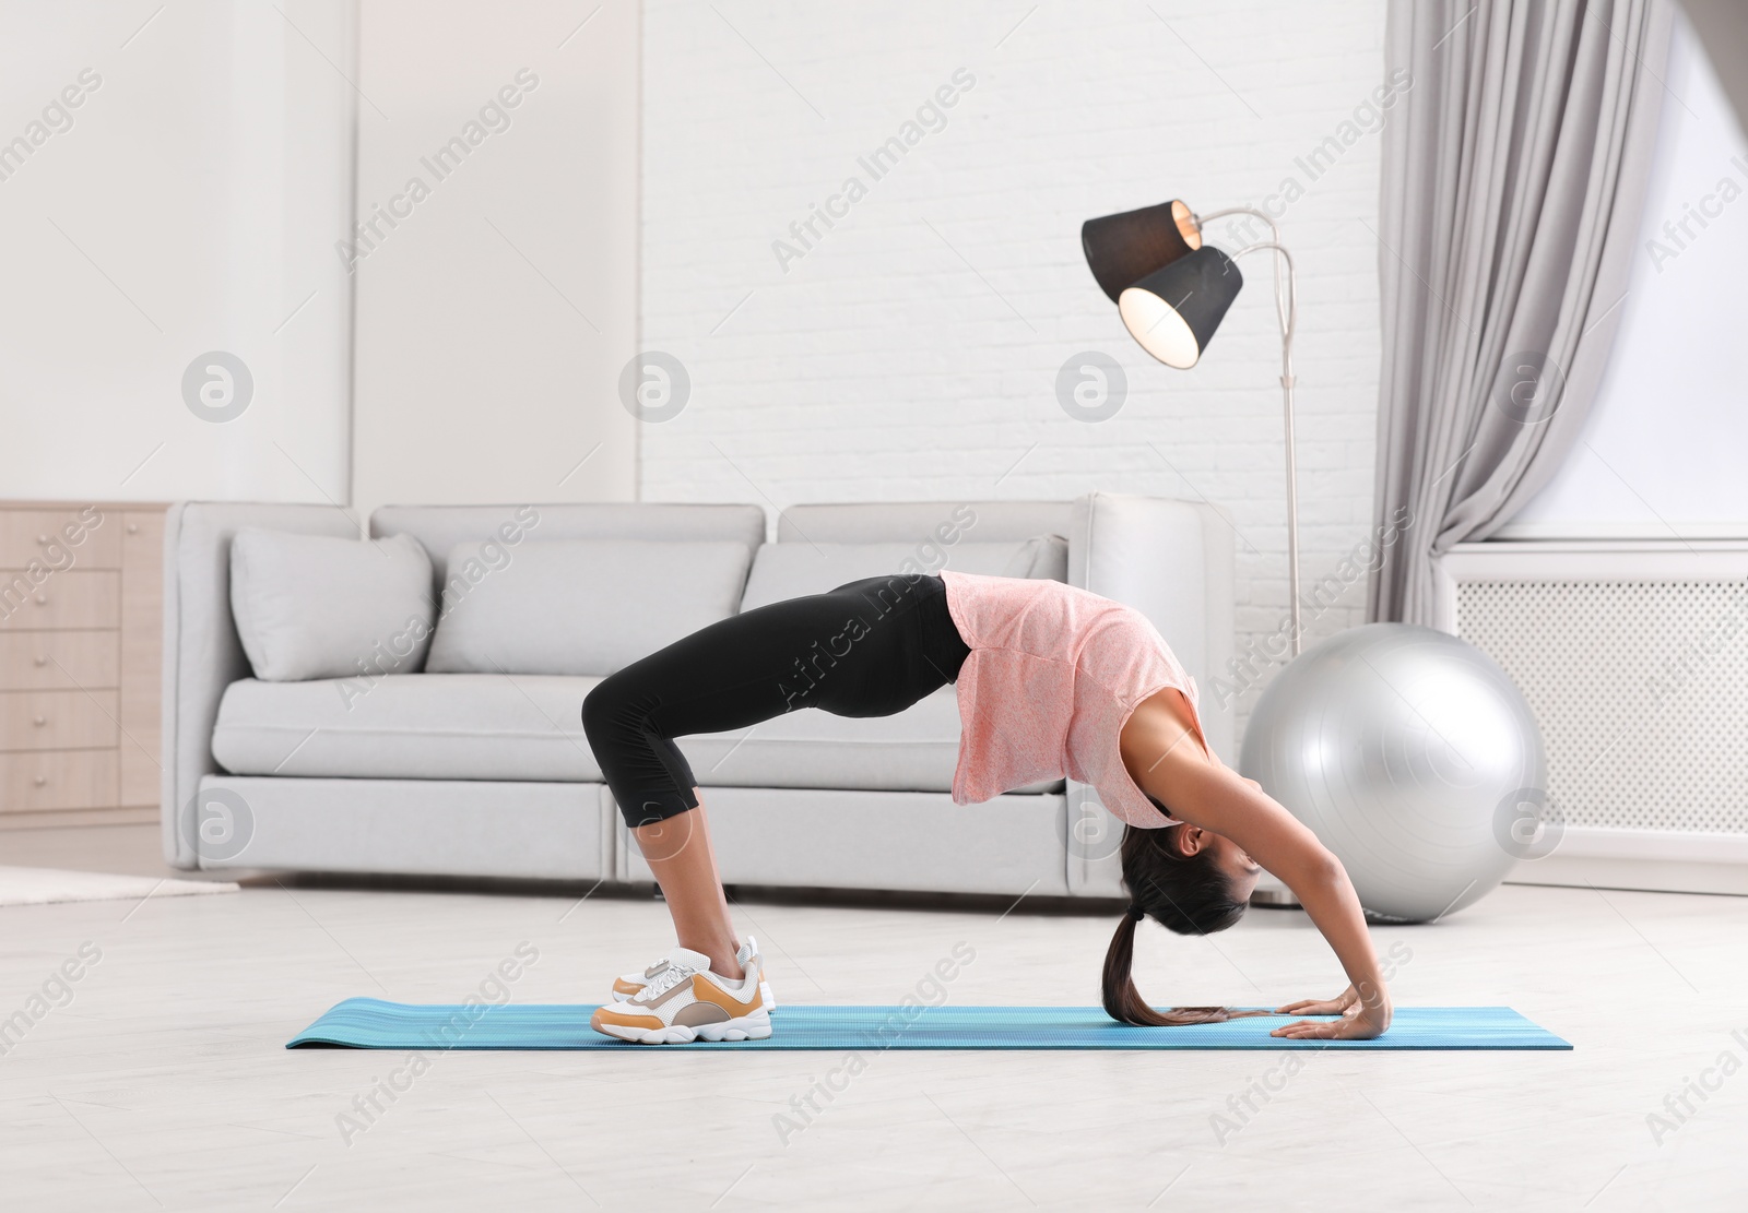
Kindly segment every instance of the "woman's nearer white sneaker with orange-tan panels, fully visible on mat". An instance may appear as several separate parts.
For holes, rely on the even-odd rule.
[[[710,956],[675,947],[636,995],[596,1007],[589,1026],[638,1045],[692,1040],[764,1040],[771,1012],[759,995],[759,954],[739,981],[710,972]]]

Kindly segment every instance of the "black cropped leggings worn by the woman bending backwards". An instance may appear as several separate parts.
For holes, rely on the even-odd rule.
[[[675,738],[797,708],[890,717],[954,682],[970,648],[939,577],[895,573],[757,606],[605,678],[582,701],[594,760],[631,827],[697,808]]]

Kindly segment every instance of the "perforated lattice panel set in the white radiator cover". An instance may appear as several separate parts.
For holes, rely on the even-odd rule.
[[[1468,580],[1456,631],[1542,725],[1573,827],[1748,834],[1748,586]]]

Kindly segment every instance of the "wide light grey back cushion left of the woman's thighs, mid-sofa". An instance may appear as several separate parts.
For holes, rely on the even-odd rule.
[[[732,615],[746,561],[734,540],[458,544],[425,668],[605,676]]]

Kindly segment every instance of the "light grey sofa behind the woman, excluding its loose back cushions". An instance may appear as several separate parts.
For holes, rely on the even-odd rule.
[[[460,542],[514,507],[385,507],[437,584]],[[755,565],[755,505],[540,505],[538,538],[734,540]],[[1092,493],[1075,502],[797,505],[774,544],[914,545],[953,566],[940,523],[977,542],[1066,537],[1070,584],[1145,612],[1206,689],[1232,647],[1232,531],[1206,505]],[[463,874],[629,883],[649,869],[601,783],[579,708],[600,676],[395,673],[355,710],[322,682],[252,678],[231,615],[238,528],[357,537],[337,509],[180,503],[164,537],[164,856],[182,869]],[[610,593],[603,587],[603,593]],[[440,627],[442,624],[439,624]],[[601,671],[601,675],[610,671]],[[1232,718],[1203,696],[1217,752]],[[1119,825],[1089,788],[951,801],[958,708],[815,710],[680,741],[710,808],[724,881],[965,893],[1115,895]]]

